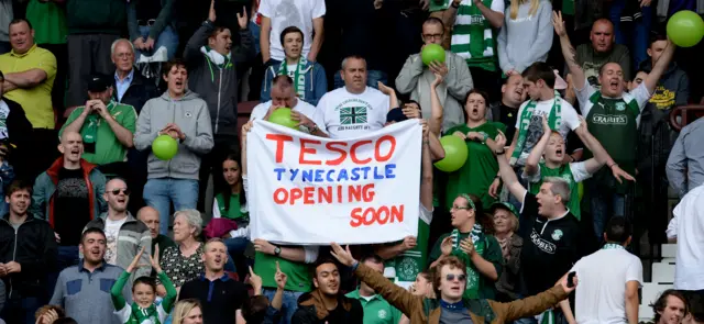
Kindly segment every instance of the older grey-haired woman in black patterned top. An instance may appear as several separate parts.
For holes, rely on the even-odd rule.
[[[174,242],[176,246],[169,246],[164,250],[161,260],[162,268],[168,279],[174,282],[176,290],[180,290],[189,280],[198,278],[204,272],[202,254],[204,245],[198,241],[202,219],[197,210],[183,210],[174,213]],[[166,295],[166,288],[158,281],[156,293]]]

